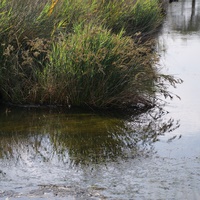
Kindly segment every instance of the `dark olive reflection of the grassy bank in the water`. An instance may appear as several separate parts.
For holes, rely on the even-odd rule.
[[[15,110],[0,116],[0,160],[82,165],[144,155],[158,136],[179,124],[153,109],[120,119],[97,113]]]

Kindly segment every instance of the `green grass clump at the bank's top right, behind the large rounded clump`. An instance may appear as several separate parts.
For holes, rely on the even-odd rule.
[[[137,32],[149,35],[163,20],[161,4],[157,0],[112,0],[104,1],[104,4],[100,17],[114,32],[123,28],[127,35]]]

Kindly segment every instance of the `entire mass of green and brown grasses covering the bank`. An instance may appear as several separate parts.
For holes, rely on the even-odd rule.
[[[154,33],[159,0],[3,0],[0,95],[16,104],[153,104],[166,84]],[[147,39],[148,38],[148,39]]]

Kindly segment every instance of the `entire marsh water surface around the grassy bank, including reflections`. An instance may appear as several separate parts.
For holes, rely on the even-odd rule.
[[[181,100],[143,114],[0,108],[0,199],[200,199],[200,1],[158,36]]]

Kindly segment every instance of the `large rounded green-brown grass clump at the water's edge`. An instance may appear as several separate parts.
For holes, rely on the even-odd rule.
[[[53,88],[51,99],[56,103],[78,106],[137,102],[153,89],[156,72],[150,54],[149,44],[134,43],[123,32],[114,35],[99,26],[77,26],[74,34],[61,35],[53,42],[49,63],[40,74],[45,80],[42,93]]]

